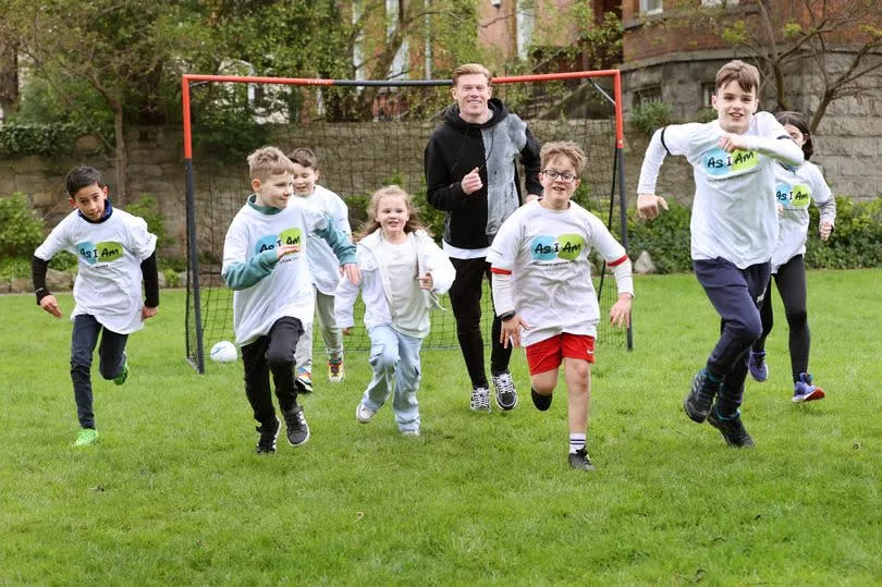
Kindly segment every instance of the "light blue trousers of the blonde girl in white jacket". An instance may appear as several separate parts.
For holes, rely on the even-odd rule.
[[[362,403],[377,411],[392,394],[395,424],[404,432],[419,430],[419,350],[422,339],[402,334],[388,326],[370,329],[370,358],[373,378],[370,380]]]

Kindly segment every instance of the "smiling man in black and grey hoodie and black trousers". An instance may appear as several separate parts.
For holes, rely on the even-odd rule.
[[[427,199],[444,219],[444,252],[456,268],[450,302],[456,335],[471,379],[471,409],[490,412],[490,390],[483,368],[480,330],[483,276],[491,279],[487,252],[502,222],[522,204],[515,159],[524,167],[528,197],[542,193],[539,183],[539,142],[501,100],[491,98],[490,72],[467,63],[453,71],[453,99],[444,122],[426,145]],[[490,375],[497,405],[517,405],[509,359],[512,345],[500,343],[501,321],[494,316]]]

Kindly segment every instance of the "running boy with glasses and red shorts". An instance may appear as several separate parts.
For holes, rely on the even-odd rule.
[[[530,394],[540,411],[551,406],[564,364],[569,466],[592,470],[585,444],[600,308],[588,254],[597,248],[613,269],[618,290],[610,309],[614,326],[630,321],[630,260],[603,222],[569,201],[585,168],[581,149],[569,142],[548,143],[541,161],[542,198],[525,204],[502,223],[487,257],[502,321],[500,343],[526,347]]]

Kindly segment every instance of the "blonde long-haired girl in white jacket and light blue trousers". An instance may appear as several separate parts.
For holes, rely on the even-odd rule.
[[[373,377],[355,408],[367,424],[393,395],[395,424],[404,436],[419,436],[419,350],[429,334],[429,310],[446,292],[455,270],[416,219],[411,196],[396,185],[376,192],[370,220],[362,231],[356,262],[362,280],[341,280],[334,295],[336,323],[350,334],[353,306],[362,289],[365,327],[370,337]]]

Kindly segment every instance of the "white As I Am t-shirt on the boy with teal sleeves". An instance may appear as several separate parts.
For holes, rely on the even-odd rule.
[[[272,325],[285,316],[311,328],[315,299],[306,256],[316,239],[306,235],[328,223],[324,215],[292,200],[287,208],[273,215],[259,212],[246,204],[226,231],[222,272],[280,243],[302,246],[298,253],[282,257],[269,276],[250,288],[233,292],[233,331],[240,346],[268,334]]]

